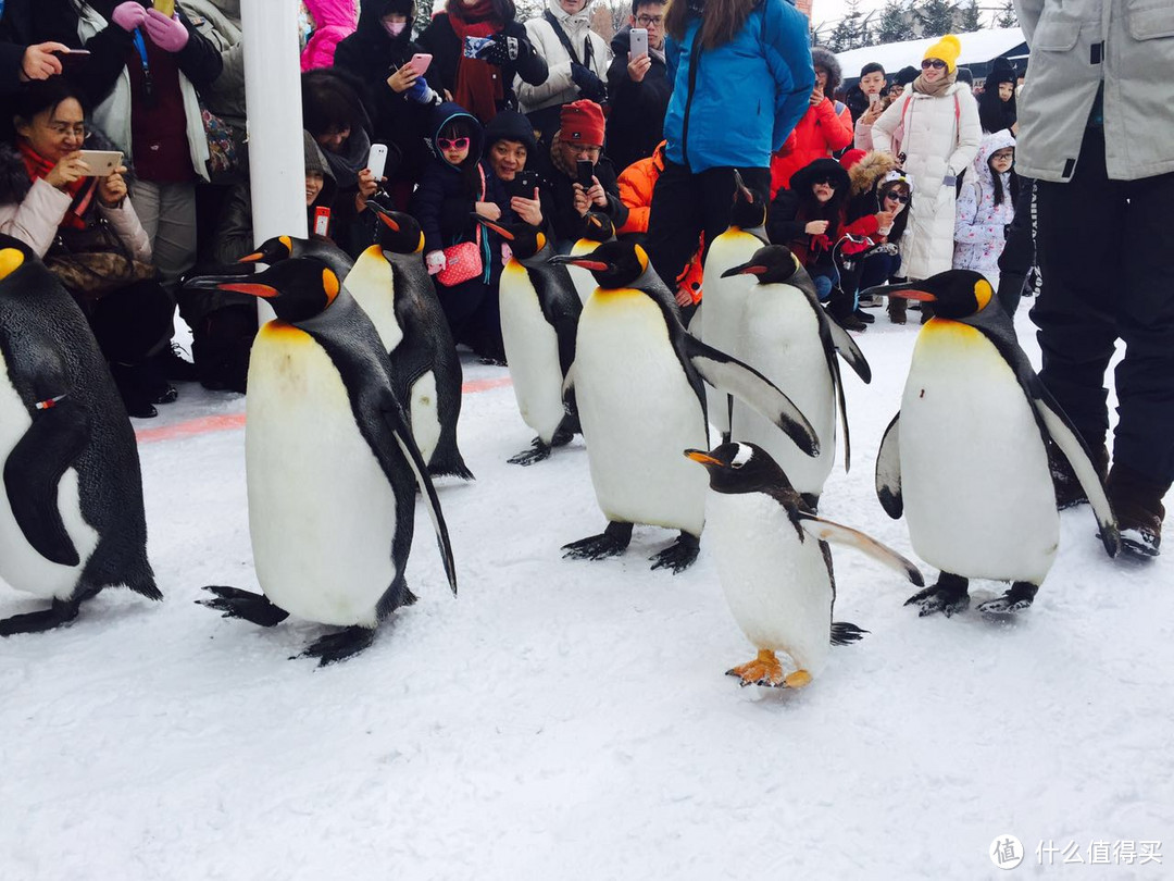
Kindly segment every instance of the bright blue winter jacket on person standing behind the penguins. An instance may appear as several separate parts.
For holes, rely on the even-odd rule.
[[[760,0],[733,40],[707,51],[696,43],[700,28],[691,16],[684,40],[666,41],[668,157],[695,173],[767,168],[815,86],[807,16],[784,0]]]

